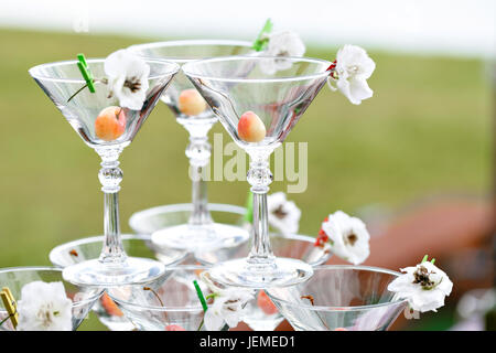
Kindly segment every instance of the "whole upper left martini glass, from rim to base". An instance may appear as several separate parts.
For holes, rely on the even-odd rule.
[[[103,58],[88,60],[87,64],[95,77],[105,77]],[[132,282],[148,281],[164,271],[160,261],[145,258],[128,257],[120,240],[118,192],[122,180],[119,168],[119,154],[131,143],[141,125],[159,101],[179,66],[161,60],[145,60],[150,66],[149,89],[140,110],[121,108],[118,99],[109,98],[104,85],[96,85],[96,92],[80,89],[86,82],[77,67],[77,61],[43,64],[30,69],[31,76],[79,135],[101,158],[98,174],[105,195],[104,229],[105,240],[98,259],[90,259],[64,269],[64,278],[75,285],[109,287]],[[103,109],[119,109],[120,135],[111,139],[97,133],[95,125]]]

